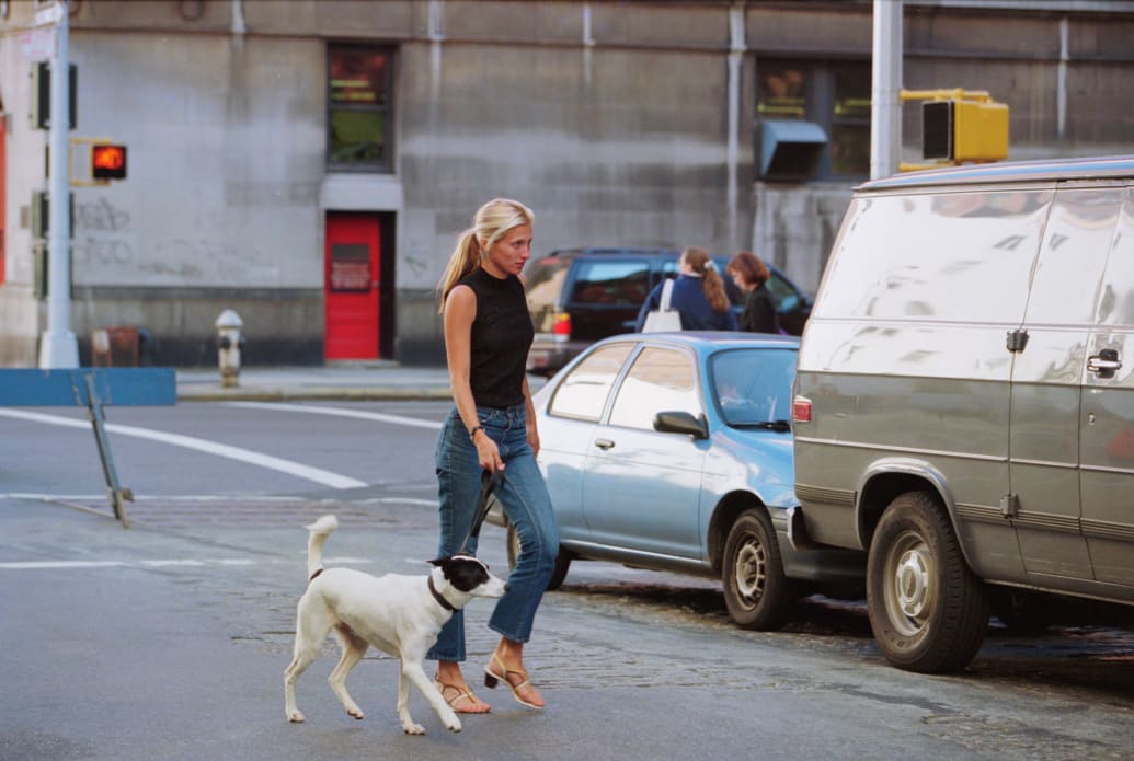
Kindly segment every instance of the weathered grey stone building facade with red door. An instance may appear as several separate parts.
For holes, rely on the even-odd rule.
[[[0,2],[0,366],[34,365],[44,330],[46,5]],[[868,174],[872,7],[70,0],[73,135],[129,150],[127,179],[74,191],[81,357],[137,325],[151,361],[212,364],[232,308],[251,364],[441,363],[434,286],[494,196],[535,211],[536,254],[751,248],[814,289]],[[905,0],[903,84],[992,93],[1014,159],[1129,153],[1132,39],[1122,0]],[[765,171],[773,119],[824,135],[804,176]],[[908,104],[907,159],[920,128]]]

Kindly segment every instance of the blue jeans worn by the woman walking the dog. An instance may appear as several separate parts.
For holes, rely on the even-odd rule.
[[[519,535],[519,557],[508,576],[508,592],[497,602],[489,628],[513,642],[527,642],[532,622],[540,607],[559,553],[559,526],[551,511],[551,497],[527,443],[524,405],[497,409],[477,407],[476,416],[484,432],[500,448],[505,463],[503,485],[496,497]],[[473,524],[476,498],[481,491],[480,459],[460,415],[454,409],[441,428],[434,451],[440,496],[441,543],[447,557],[460,549]],[[476,552],[476,539],[468,542]],[[437,643],[426,658],[465,660],[465,618],[462,610],[441,627]]]

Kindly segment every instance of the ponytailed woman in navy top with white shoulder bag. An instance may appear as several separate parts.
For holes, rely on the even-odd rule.
[[[709,252],[697,246],[686,246],[677,260],[677,279],[670,308],[682,315],[682,330],[736,330],[736,315],[725,293],[725,281]],[[638,311],[637,330],[645,325],[646,315],[661,306],[658,284]]]

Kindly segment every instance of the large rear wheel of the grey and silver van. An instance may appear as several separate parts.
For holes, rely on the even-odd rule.
[[[957,671],[976,656],[988,631],[988,590],[934,494],[907,492],[886,508],[870,543],[866,608],[882,654],[898,668]]]

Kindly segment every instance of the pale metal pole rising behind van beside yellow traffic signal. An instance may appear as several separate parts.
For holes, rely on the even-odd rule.
[[[870,178],[889,177],[902,152],[902,2],[874,0]]]

